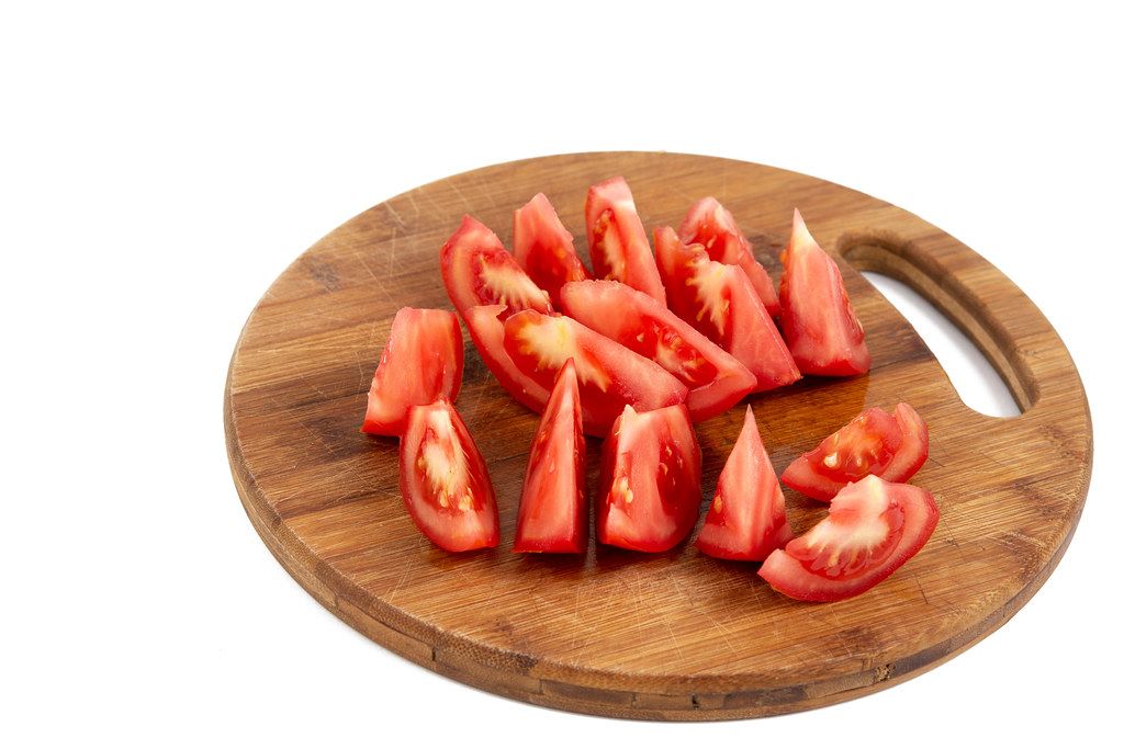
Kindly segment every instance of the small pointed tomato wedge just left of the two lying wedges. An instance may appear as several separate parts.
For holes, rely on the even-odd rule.
[[[785,494],[761,442],[753,410],[746,407],[745,423],[718,476],[718,488],[696,544],[711,557],[763,561],[791,539]]]

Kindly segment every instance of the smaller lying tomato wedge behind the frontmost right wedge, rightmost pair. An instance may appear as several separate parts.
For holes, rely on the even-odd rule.
[[[871,474],[888,482],[909,481],[927,457],[928,427],[912,405],[898,403],[892,417],[874,407],[794,460],[780,479],[826,502]]]

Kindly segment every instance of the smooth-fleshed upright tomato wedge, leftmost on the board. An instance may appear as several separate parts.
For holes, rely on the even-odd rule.
[[[411,405],[438,398],[456,400],[463,368],[464,345],[455,314],[410,307],[398,310],[371,378],[362,431],[400,436]]]

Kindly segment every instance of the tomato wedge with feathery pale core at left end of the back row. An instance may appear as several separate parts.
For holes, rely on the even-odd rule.
[[[552,311],[546,292],[504,249],[499,237],[471,216],[441,248],[441,277],[461,314],[481,304],[504,304],[509,313]]]

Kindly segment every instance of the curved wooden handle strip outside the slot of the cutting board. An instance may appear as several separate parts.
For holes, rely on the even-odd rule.
[[[1077,366],[1034,302],[964,244],[907,216],[896,231],[844,231],[835,250],[860,271],[901,281],[941,310],[996,368],[1022,418],[1057,415],[1058,409],[1088,414]]]

